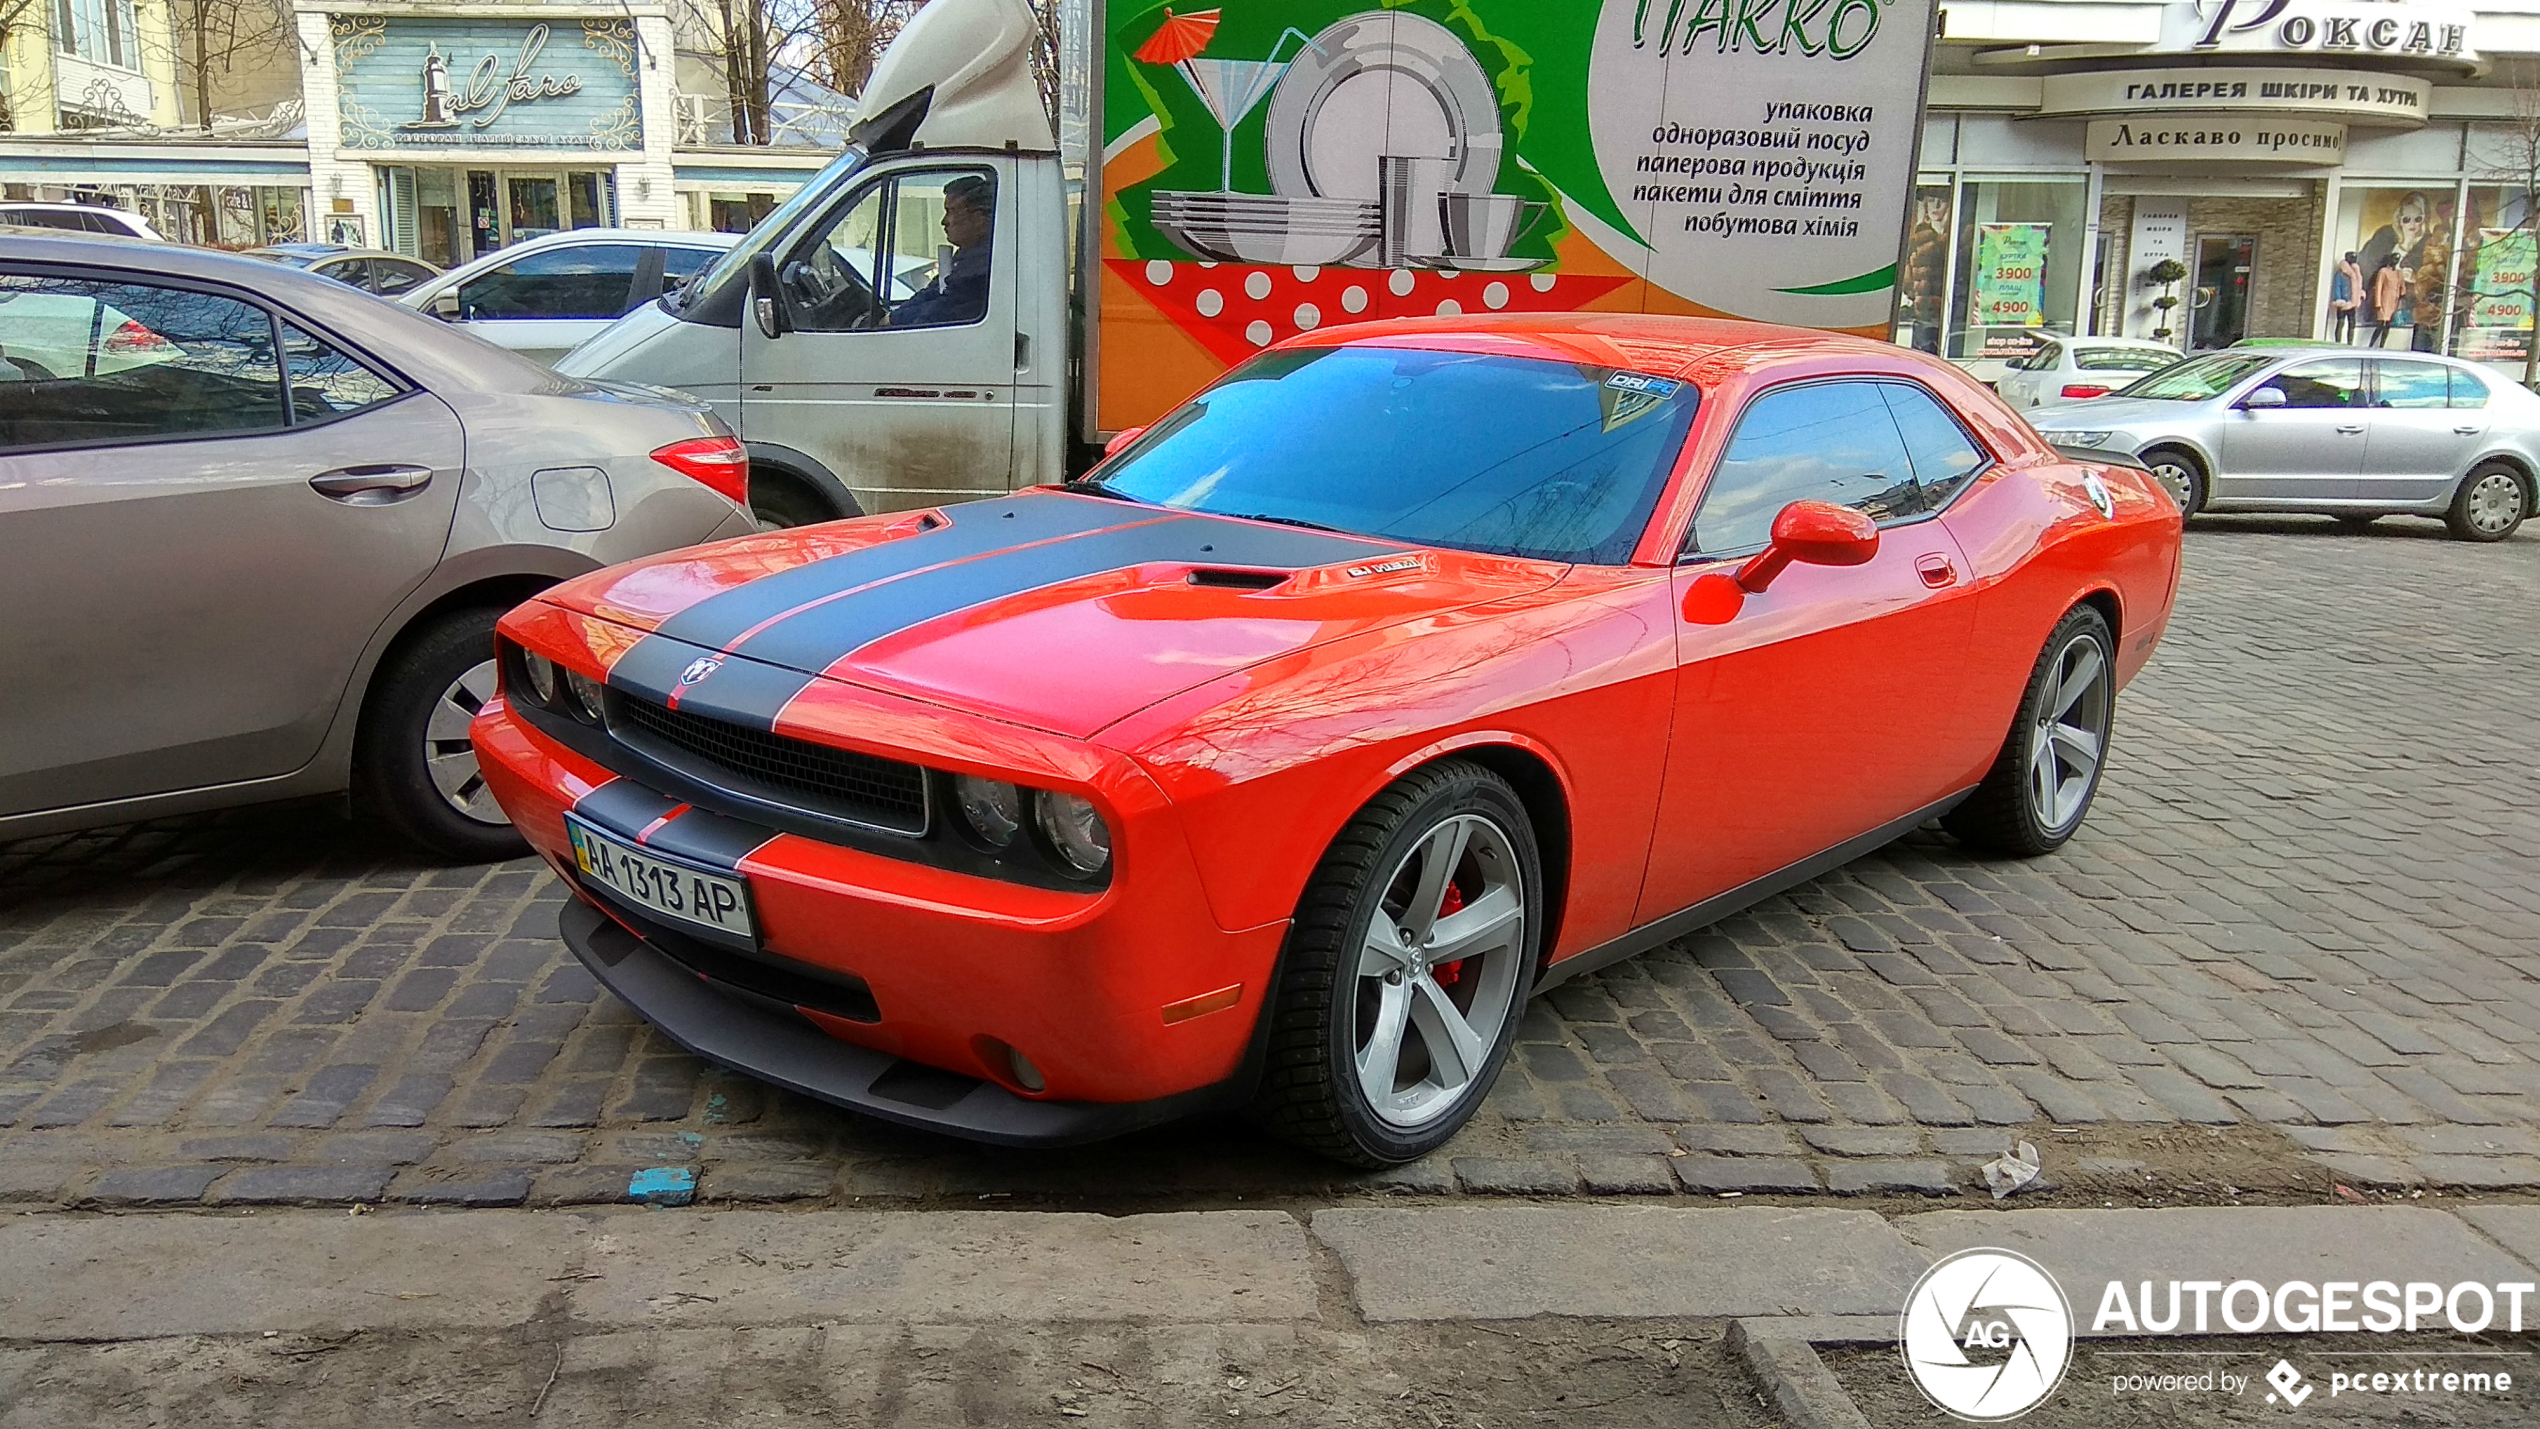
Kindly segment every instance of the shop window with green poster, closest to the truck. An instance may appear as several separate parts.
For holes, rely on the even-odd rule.
[[[2047,335],[2073,333],[2085,193],[2078,175],[1958,188],[1951,358],[2024,358]]]

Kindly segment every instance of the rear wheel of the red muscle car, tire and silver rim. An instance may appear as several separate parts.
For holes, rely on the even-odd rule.
[[[2055,853],[2090,815],[2113,718],[2116,640],[2098,609],[2073,607],[2029,670],[1991,772],[1941,827],[1986,853]]]

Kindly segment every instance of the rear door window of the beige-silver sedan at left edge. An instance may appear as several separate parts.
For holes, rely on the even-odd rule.
[[[0,274],[0,449],[282,426],[262,307],[132,282]]]

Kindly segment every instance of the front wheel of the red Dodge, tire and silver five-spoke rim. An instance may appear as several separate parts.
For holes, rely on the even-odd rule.
[[[1534,825],[1499,774],[1445,759],[1369,800],[1298,899],[1252,1117],[1364,1168],[1445,1145],[1509,1058],[1542,901]]]

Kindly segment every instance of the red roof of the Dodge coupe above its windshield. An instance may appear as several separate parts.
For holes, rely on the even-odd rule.
[[[1684,376],[1707,358],[1735,358],[1735,365],[1773,365],[1796,358],[1852,353],[1862,358],[1905,358],[1905,348],[1821,333],[1742,322],[1730,317],[1674,317],[1664,312],[1471,312],[1448,317],[1389,317],[1318,327],[1280,343],[1283,348],[1435,348],[1450,353],[1506,353],[1636,373]]]

